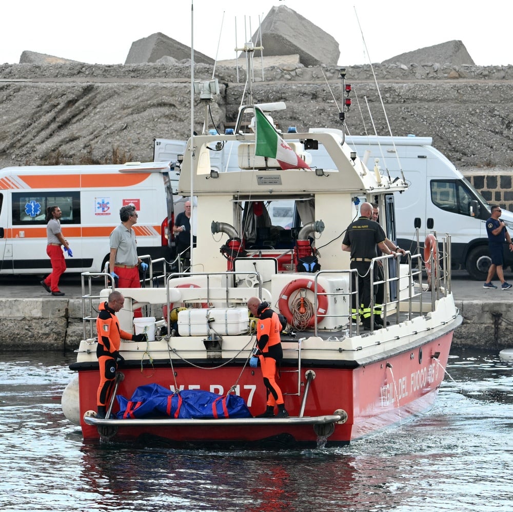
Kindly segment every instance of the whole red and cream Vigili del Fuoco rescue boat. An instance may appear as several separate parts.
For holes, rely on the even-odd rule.
[[[199,88],[206,111],[215,87],[210,89],[210,81]],[[350,94],[350,87],[343,90]],[[206,114],[204,132],[189,139],[178,192],[194,197],[191,225],[197,244],[185,272],[161,276],[159,287],[151,286],[150,278],[146,288],[117,289],[125,296],[118,313],[123,330],[133,329],[136,309],[151,320],[145,326],[147,341],[122,341],[124,363],[107,418],[95,413],[100,377],[94,312],[113,290],[108,273],[99,275],[105,285],[98,294],[84,294],[84,339],[70,365],[78,378],[63,396],[65,414],[80,423],[84,440],[178,447],[338,446],[432,407],[453,331],[462,321],[450,287],[450,235],[433,234],[438,251],[431,251],[428,265],[437,269],[430,272],[437,284],[429,290],[422,251],[373,259],[371,285],[377,283],[373,268],[384,267],[385,327],[374,328],[373,317],[370,331],[352,323],[351,296],[358,288],[351,284],[350,255],[341,250],[344,231],[358,217],[361,201],[377,202],[385,233],[396,239],[393,197],[408,193],[407,183],[378,167],[368,169],[337,130],[281,133],[269,117],[274,107],[251,100],[240,108],[234,130],[222,134],[209,133]],[[262,115],[277,144],[298,157],[296,163],[284,166],[261,154]],[[238,142],[238,171],[211,172],[210,155],[233,141]],[[321,145],[330,157],[322,162],[315,160]],[[96,277],[83,274],[89,281],[84,290],[91,290]],[[265,410],[266,392],[260,368],[248,362],[256,341],[246,308],[250,297],[267,301],[287,319],[278,382],[288,418],[255,417]],[[250,415],[123,417],[119,398],[130,400],[148,384],[177,398],[186,390],[241,397]]]

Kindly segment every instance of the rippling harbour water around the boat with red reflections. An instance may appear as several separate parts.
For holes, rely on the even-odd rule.
[[[449,359],[435,408],[345,448],[201,452],[84,444],[61,412],[73,355],[0,356],[3,510],[510,510],[513,367]]]

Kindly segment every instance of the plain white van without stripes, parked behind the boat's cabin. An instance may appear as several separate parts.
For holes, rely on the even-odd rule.
[[[325,128],[320,130],[326,131]],[[316,131],[310,129],[310,133]],[[338,134],[342,142],[342,132],[338,129],[331,131]],[[181,141],[155,139],[155,161],[159,161],[163,154],[162,148],[171,142]],[[311,155],[312,168],[332,168],[333,163],[322,146],[315,148],[315,145],[311,147],[308,144],[308,140],[301,142]],[[453,163],[433,148],[431,137],[347,135],[345,142],[366,162],[370,171],[373,171],[376,159],[380,172],[388,172],[392,178],[400,178],[403,171],[409,188],[394,197],[397,223],[395,232],[400,247],[413,252],[416,250],[416,227],[419,227],[421,246],[431,231],[450,233],[452,267],[466,269],[473,279],[486,278],[491,263],[485,227],[485,221],[490,216],[490,205]],[[184,151],[186,142],[181,142],[181,145],[174,144],[174,148],[183,148],[180,150]],[[212,169],[219,172],[239,170],[236,149],[212,151]],[[172,152],[169,156],[176,158]],[[513,213],[503,210],[501,219],[513,232]],[[509,251],[504,252],[504,257],[506,267],[513,265],[513,255]]]

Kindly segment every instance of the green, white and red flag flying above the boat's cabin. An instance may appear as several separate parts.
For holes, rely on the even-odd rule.
[[[297,153],[286,144],[270,124],[264,113],[255,108],[257,144],[255,156],[267,156],[278,160],[280,167],[287,169],[310,169]]]

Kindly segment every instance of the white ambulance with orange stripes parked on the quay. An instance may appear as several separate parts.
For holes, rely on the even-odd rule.
[[[31,166],[0,170],[0,274],[51,270],[46,254],[46,208],[59,206],[73,257],[67,272],[100,272],[109,258],[109,235],[120,208],[134,204],[137,253],[172,257],[173,223],[167,163]]]

